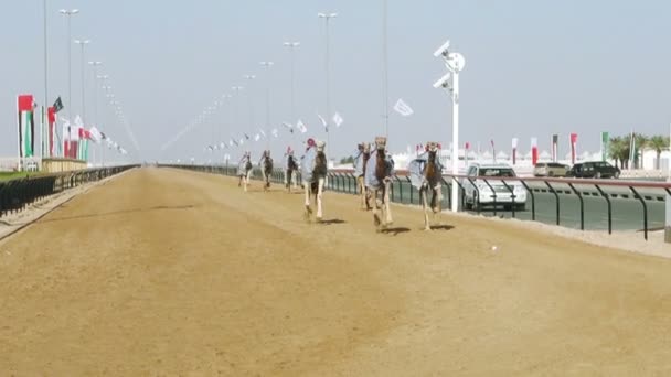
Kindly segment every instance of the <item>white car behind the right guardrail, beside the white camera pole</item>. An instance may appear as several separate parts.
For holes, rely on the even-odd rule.
[[[505,208],[512,208],[513,205],[516,211],[526,208],[526,188],[521,182],[497,180],[516,176],[510,165],[475,163],[468,168],[467,175],[468,179],[462,182],[466,209],[493,205],[494,200],[497,205],[503,205]]]

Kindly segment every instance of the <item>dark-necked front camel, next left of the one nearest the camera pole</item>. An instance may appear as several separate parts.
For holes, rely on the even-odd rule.
[[[394,162],[386,152],[386,138],[375,138],[375,151],[366,164],[365,185],[373,197],[373,224],[377,231],[393,223],[390,190],[394,175]],[[382,220],[379,212],[382,213]],[[382,228],[381,228],[382,227]]]

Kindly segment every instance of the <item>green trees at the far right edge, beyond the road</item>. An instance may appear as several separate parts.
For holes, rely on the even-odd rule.
[[[633,143],[632,143],[633,138]],[[633,153],[631,147],[633,144]],[[627,136],[610,138],[608,146],[608,154],[615,160],[616,166],[620,169],[629,169],[631,164],[633,169],[639,169],[642,160],[643,151],[653,150],[657,152],[657,162],[654,169],[660,169],[660,158],[662,151],[669,149],[669,137],[652,136],[647,137],[642,133],[629,133]],[[633,161],[631,157],[633,155]]]

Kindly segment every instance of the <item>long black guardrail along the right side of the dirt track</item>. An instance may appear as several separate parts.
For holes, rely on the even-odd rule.
[[[236,175],[237,166],[206,165],[163,165],[189,169],[223,175]],[[284,171],[275,170],[271,181],[284,183]],[[254,169],[254,179],[260,179],[260,170]],[[300,182],[300,177],[297,177]],[[480,197],[480,190],[475,181],[481,181],[489,188],[491,206],[488,211],[478,205],[467,209],[466,197]],[[466,184],[466,183],[470,184]],[[503,182],[507,192],[499,192],[492,186]],[[522,211],[518,209],[515,183],[524,187],[528,201]],[[443,176],[443,208],[451,206],[451,186],[459,190],[459,211],[475,214],[530,219],[548,224],[575,227],[582,230],[603,229],[613,234],[616,229],[642,230],[648,239],[651,228],[663,228],[665,198],[671,195],[671,184],[660,182],[641,182],[626,180],[584,180],[584,179],[541,179],[541,177],[472,177],[466,175]],[[468,187],[466,187],[468,186]],[[331,170],[327,179],[328,190],[356,194],[356,179],[353,170]],[[473,192],[467,193],[467,190]],[[497,198],[509,195],[512,202],[497,202]],[[393,202],[420,205],[419,192],[411,184],[407,171],[396,171],[392,181],[390,197]],[[501,206],[510,209],[501,211]]]

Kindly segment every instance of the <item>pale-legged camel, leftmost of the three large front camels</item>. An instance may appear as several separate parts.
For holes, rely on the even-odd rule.
[[[328,174],[327,157],[324,153],[326,142],[308,139],[308,150],[302,160],[302,185],[306,192],[305,202],[305,219],[311,220],[312,208],[311,198],[315,198],[317,206],[317,222],[321,223],[322,213],[322,195],[323,187]]]

